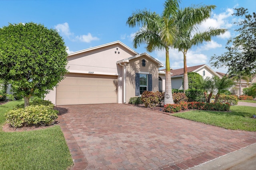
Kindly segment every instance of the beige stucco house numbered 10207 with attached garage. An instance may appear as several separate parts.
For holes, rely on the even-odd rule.
[[[158,70],[164,66],[120,41],[70,53],[67,59],[69,73],[45,98],[54,105],[128,103],[145,90],[159,90]]]

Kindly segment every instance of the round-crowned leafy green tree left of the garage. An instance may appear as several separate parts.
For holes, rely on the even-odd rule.
[[[0,28],[0,78],[29,106],[31,96],[43,96],[64,79],[68,56],[62,37],[37,23]]]

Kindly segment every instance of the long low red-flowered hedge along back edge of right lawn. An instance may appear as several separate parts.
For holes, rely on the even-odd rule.
[[[210,111],[229,111],[229,103],[203,103],[203,102],[188,102],[188,109],[210,110]]]

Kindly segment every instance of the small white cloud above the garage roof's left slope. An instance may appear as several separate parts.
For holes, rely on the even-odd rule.
[[[62,33],[64,36],[68,37],[71,41],[82,41],[90,43],[91,41],[99,40],[98,37],[93,37],[91,33],[88,33],[87,35],[77,35],[74,37],[74,33],[70,31],[67,22],[55,25],[55,29],[57,29],[59,33]]]

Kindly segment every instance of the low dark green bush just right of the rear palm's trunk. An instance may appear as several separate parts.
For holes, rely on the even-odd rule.
[[[189,88],[186,90],[185,94],[188,98],[188,102],[206,102],[203,90]]]

